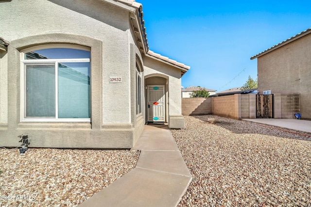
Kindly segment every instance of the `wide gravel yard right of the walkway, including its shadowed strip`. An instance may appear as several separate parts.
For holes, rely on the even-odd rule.
[[[171,130],[193,176],[178,206],[311,206],[311,138],[212,115]]]

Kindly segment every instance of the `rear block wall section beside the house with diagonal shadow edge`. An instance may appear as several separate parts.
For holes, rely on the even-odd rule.
[[[183,115],[212,114],[212,98],[182,98]]]

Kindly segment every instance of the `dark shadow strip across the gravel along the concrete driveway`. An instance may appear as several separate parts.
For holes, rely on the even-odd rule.
[[[311,141],[311,134],[291,129],[284,129],[281,127],[263,125],[254,122],[236,120],[215,115],[195,115],[192,117],[204,121],[205,124],[223,127],[236,134],[262,134],[268,136]]]

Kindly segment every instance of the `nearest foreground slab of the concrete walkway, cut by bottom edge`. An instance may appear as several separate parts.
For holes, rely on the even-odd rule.
[[[135,168],[80,207],[175,207],[191,177]]]

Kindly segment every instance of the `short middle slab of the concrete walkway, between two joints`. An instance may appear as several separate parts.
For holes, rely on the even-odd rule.
[[[141,151],[136,167],[191,176],[180,151]]]

